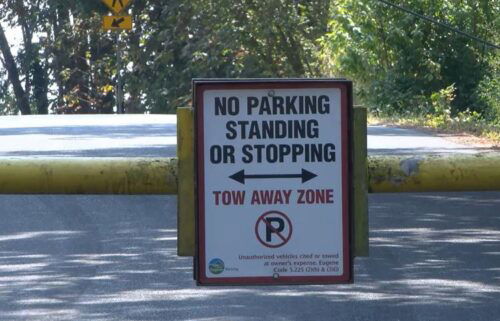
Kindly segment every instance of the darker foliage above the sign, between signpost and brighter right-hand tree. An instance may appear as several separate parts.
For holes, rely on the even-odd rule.
[[[318,11],[329,1],[147,3],[133,8],[126,88],[149,112],[189,104],[192,78],[318,74],[314,42],[327,26]]]

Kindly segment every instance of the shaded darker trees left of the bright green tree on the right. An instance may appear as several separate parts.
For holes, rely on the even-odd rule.
[[[36,4],[36,5],[35,5]],[[318,76],[316,40],[327,30],[328,0],[134,1],[134,29],[123,33],[128,112],[174,112],[189,104],[200,77]],[[100,30],[100,1],[7,0],[0,19],[26,25],[18,54],[33,109],[47,85],[58,113],[112,112],[116,86],[114,35]],[[43,50],[27,45],[37,37]],[[42,75],[35,79],[34,70]],[[37,75],[38,76],[38,75]],[[36,91],[36,94],[35,94]],[[43,109],[43,108],[41,108]]]

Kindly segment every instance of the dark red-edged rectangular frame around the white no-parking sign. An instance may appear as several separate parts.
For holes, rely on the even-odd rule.
[[[302,89],[338,88],[341,92],[342,142],[342,233],[343,274],[339,276],[280,276],[269,277],[208,277],[205,256],[205,184],[204,184],[204,109],[203,95],[207,90],[243,89]],[[335,284],[353,282],[352,251],[352,82],[346,79],[193,79],[193,109],[195,115],[196,171],[196,253],[194,276],[197,285],[292,285]],[[201,158],[200,158],[201,157]]]

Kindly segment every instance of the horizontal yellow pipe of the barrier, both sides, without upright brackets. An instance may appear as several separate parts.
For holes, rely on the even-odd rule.
[[[177,158],[0,157],[0,194],[177,194],[177,178]],[[368,157],[369,193],[499,190],[500,153]]]

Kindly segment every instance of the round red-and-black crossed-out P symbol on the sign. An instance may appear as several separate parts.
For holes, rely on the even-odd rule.
[[[292,222],[284,213],[265,212],[255,223],[255,235],[265,247],[281,247],[292,237]]]

